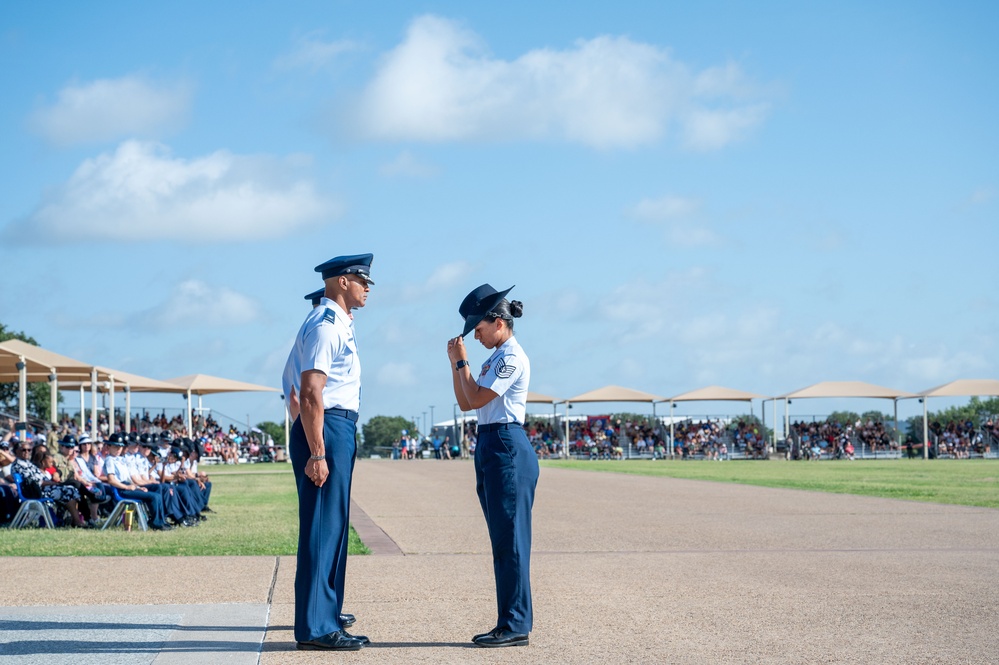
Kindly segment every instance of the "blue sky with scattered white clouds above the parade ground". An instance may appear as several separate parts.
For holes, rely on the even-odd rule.
[[[5,3],[0,321],[278,387],[370,251],[362,420],[451,413],[483,282],[559,397],[999,376],[999,7],[673,4]]]

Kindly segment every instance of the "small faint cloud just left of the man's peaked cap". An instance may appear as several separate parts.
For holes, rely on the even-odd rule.
[[[256,301],[224,286],[189,279],[174,287],[165,303],[138,315],[150,328],[237,326],[260,319]]]

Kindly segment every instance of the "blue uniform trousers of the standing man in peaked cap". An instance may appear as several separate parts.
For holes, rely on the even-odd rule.
[[[299,642],[343,630],[344,577],[350,527],[350,482],[354,475],[356,424],[327,413],[323,423],[326,465],[322,487],[305,475],[312,454],[302,420],[291,428],[291,465],[298,484],[298,568],[295,571],[295,639]]]

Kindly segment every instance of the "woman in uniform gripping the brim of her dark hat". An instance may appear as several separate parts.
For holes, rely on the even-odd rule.
[[[538,458],[523,428],[531,363],[513,336],[513,320],[524,306],[506,300],[511,289],[497,291],[483,284],[469,293],[458,308],[465,329],[447,343],[455,399],[462,411],[477,411],[475,490],[493,548],[498,618],[495,628],[472,638],[481,647],[526,646],[534,621],[531,508]],[[493,350],[478,379],[472,376],[463,340],[472,330],[475,339]]]

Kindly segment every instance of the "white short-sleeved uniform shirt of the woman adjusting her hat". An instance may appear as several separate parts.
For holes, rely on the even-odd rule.
[[[482,364],[476,381],[498,395],[476,410],[480,425],[523,423],[527,415],[527,386],[531,382],[531,361],[516,337],[501,344]]]

